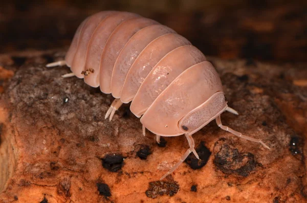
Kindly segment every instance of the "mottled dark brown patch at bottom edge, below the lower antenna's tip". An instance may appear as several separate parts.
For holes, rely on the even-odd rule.
[[[145,194],[147,197],[155,199],[158,196],[168,195],[173,196],[179,190],[177,182],[155,181],[149,183],[149,188]]]

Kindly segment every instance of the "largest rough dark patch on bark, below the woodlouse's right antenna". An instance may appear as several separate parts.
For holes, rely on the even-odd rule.
[[[218,140],[214,145],[213,163],[226,174],[248,176],[259,165],[252,153],[241,153],[238,149],[225,143],[226,139]]]

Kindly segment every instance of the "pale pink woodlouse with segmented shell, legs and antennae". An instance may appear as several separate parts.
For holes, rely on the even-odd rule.
[[[190,154],[199,159],[191,135],[215,119],[235,136],[258,142],[222,125],[221,114],[237,112],[227,106],[222,82],[204,54],[172,29],[138,14],[103,11],[87,17],[78,27],[64,61],[72,73],[116,99],[105,115],[132,101],[130,110],[145,129],[160,136],[185,134],[190,148],[161,179]],[[270,149],[270,148],[269,148]]]

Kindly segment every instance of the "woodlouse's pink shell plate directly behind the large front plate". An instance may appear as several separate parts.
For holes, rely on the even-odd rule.
[[[178,47],[166,54],[142,82],[131,103],[131,111],[141,117],[174,79],[192,65],[205,60],[204,54],[191,45]]]

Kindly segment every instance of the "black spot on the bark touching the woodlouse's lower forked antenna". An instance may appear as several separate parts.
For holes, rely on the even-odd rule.
[[[205,166],[211,155],[210,150],[205,146],[205,142],[201,142],[201,144],[195,150],[200,159],[198,160],[193,153],[190,153],[185,160],[185,162],[194,170]]]

